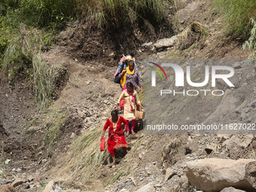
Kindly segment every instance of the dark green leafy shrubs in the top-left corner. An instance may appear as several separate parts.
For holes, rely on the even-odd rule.
[[[62,26],[66,20],[75,17],[75,0],[3,0],[0,2],[0,14],[14,14],[14,19],[28,26]]]

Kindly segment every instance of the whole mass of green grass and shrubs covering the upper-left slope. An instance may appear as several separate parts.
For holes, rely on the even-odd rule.
[[[136,22],[163,19],[163,0],[2,0],[0,2],[1,81],[26,77],[40,108],[51,104],[59,70],[47,65],[41,51],[49,47],[66,22],[85,18],[101,29],[123,29]]]

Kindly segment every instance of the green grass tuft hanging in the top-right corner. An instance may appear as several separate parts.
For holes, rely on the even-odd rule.
[[[213,8],[224,17],[226,35],[246,38],[250,34],[250,19],[256,15],[254,0],[214,0]]]

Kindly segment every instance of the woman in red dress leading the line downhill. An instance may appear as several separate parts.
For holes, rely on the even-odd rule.
[[[121,125],[124,123],[124,126],[129,126],[129,121],[125,120],[123,117],[118,116],[117,111],[111,112],[111,117],[108,118],[105,126],[103,128],[102,138],[105,135],[105,131],[108,129],[108,152],[111,154],[113,163],[115,163],[114,154],[116,148],[123,148],[123,151],[126,151],[127,143],[123,136],[123,130]]]

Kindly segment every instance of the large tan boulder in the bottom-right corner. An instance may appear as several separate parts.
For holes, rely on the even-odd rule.
[[[251,162],[254,160],[194,160],[187,163],[187,178],[195,187],[206,192],[220,191],[225,187],[256,191],[245,178],[245,166]]]

